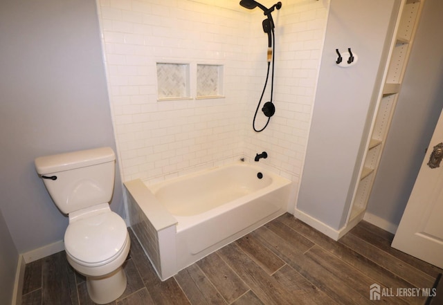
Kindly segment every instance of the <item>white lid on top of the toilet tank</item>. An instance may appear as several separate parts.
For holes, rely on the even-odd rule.
[[[113,160],[116,160],[116,155],[111,147],[100,147],[43,156],[36,158],[34,163],[37,173],[43,175],[106,163]]]

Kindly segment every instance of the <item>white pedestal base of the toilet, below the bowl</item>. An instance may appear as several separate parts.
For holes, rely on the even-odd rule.
[[[107,304],[123,295],[127,279],[123,267],[104,277],[87,277],[86,285],[89,297],[96,304]]]

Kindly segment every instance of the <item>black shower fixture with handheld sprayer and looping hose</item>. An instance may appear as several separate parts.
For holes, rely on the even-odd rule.
[[[274,21],[272,19],[272,12],[276,8],[277,10],[280,10],[282,8],[282,3],[279,1],[275,3],[271,8],[266,8],[266,6],[263,6],[262,4],[258,3],[254,0],[241,0],[240,6],[243,6],[244,8],[247,8],[248,10],[253,10],[254,8],[260,8],[263,10],[263,14],[267,17],[263,20],[262,26],[264,33],[268,34],[268,52],[267,52],[267,62],[268,62],[268,71],[266,73],[266,80],[264,82],[262,95],[260,96],[260,100],[257,104],[257,109],[255,109],[254,119],[252,123],[252,127],[254,131],[260,132],[263,131],[266,126],[269,124],[269,120],[271,119],[271,116],[275,113],[275,106],[272,102],[273,97],[273,88],[274,88],[274,53],[275,53],[275,43],[273,43],[273,40],[275,40],[274,37]],[[256,129],[255,128],[255,118],[257,117],[258,109],[260,109],[260,104],[262,103],[264,91],[266,91],[266,84],[268,83],[269,78],[269,70],[272,62],[272,76],[271,76],[271,100],[269,102],[264,103],[264,106],[262,108],[262,111],[264,115],[268,118],[268,121],[264,125],[262,129]]]

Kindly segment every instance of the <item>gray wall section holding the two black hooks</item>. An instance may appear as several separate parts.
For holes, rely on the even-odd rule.
[[[366,117],[398,6],[394,0],[331,1],[297,209],[334,229],[341,228],[350,205]],[[349,47],[359,61],[340,68],[336,48],[343,53]]]

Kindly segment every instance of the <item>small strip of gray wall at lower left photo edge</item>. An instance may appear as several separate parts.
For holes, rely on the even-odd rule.
[[[14,288],[15,270],[19,261],[19,252],[9,234],[6,221],[0,210],[0,299],[2,304],[11,304]]]

